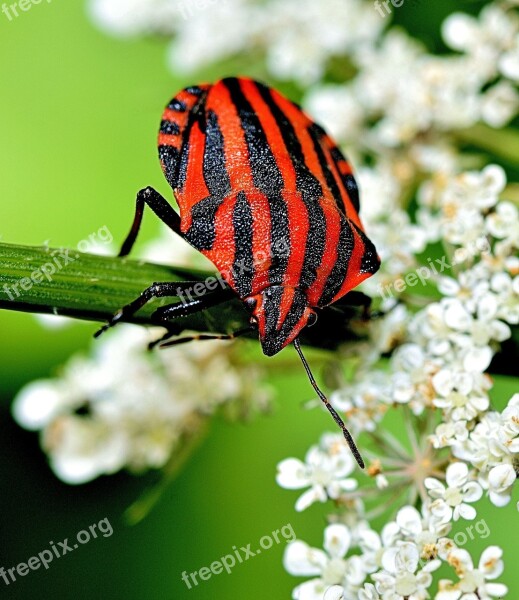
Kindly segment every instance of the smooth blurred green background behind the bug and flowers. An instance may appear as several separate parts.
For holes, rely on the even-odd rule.
[[[452,10],[477,11],[481,2],[407,2],[396,18],[431,48],[441,49],[439,23]],[[157,119],[163,104],[185,84],[165,66],[166,41],[121,41],[89,22],[78,0],[32,6],[9,22],[0,14],[0,239],[4,242],[77,245],[102,226],[121,240],[132,217],[135,192],[151,184],[168,196],[156,158]],[[207,74],[208,78],[223,73]],[[228,74],[235,74],[229,72]],[[244,73],[246,74],[246,73]],[[158,231],[145,219],[142,241]],[[55,372],[91,343],[92,324],[43,329],[30,315],[0,314],[0,567],[11,568],[77,531],[108,517],[114,533],[31,571],[0,596],[9,598],[138,598],[250,600],[289,598],[297,581],[275,545],[192,590],[181,573],[208,566],[232,551],[252,547],[290,523],[297,536],[321,546],[322,506],[296,514],[296,494],[278,488],[276,464],[302,457],[329,425],[321,412],[301,410],[312,392],[300,372],[276,375],[275,413],[249,425],[213,424],[189,467],[141,524],[129,527],[125,508],[156,477],[119,474],[89,485],[58,481],[39,450],[37,436],[18,428],[9,407],[26,382]],[[265,359],[266,360],[266,359]],[[269,364],[275,363],[270,359]],[[510,380],[499,386],[513,391]],[[496,394],[498,395],[498,394]],[[503,397],[504,394],[501,394]],[[506,396],[505,396],[506,397]],[[512,503],[514,504],[514,503]],[[479,550],[507,549],[509,598],[519,597],[511,567],[515,508],[481,513],[491,529]]]

